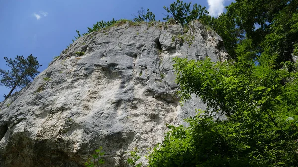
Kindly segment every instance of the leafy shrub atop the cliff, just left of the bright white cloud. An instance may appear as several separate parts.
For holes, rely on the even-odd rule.
[[[163,20],[172,18],[181,25],[188,25],[189,22],[200,19],[208,14],[206,7],[194,4],[191,9],[191,2],[183,3],[180,0],[170,4],[170,7],[164,6],[163,8],[169,13]]]

